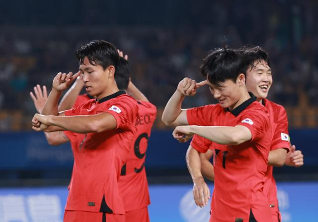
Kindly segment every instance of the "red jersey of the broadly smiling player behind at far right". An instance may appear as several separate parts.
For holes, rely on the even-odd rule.
[[[269,112],[272,127],[272,143],[270,150],[285,148],[289,151],[290,143],[288,135],[288,119],[285,109],[282,106],[266,99],[262,102]],[[268,197],[273,220],[278,222],[280,214],[277,201],[277,187],[273,177],[273,167],[270,165],[267,166],[264,193]]]

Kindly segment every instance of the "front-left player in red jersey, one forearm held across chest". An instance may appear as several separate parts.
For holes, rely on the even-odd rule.
[[[77,50],[86,92],[96,96],[79,107],[58,112],[57,102],[77,73],[59,73],[41,114],[35,114],[36,131],[68,130],[74,153],[73,180],[64,221],[124,222],[125,210],[118,188],[137,128],[138,103],[119,91],[115,82],[118,52],[95,40]]]

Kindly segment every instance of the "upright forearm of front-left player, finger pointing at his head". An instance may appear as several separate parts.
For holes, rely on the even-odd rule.
[[[62,91],[67,89],[70,84],[79,76],[80,72],[73,75],[72,72],[58,73],[53,79],[51,93],[42,110],[43,115],[58,115],[58,102]]]

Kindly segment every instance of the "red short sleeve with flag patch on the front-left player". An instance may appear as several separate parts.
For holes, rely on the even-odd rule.
[[[116,129],[132,129],[136,127],[136,119],[138,116],[137,101],[131,97],[121,97],[109,103],[107,107],[99,107],[97,113],[107,112],[113,115],[116,119]]]

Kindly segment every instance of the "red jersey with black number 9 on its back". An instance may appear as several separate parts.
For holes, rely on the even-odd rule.
[[[119,179],[119,190],[126,212],[142,209],[150,204],[145,158],[157,108],[143,101],[138,101],[138,106],[137,133]]]

